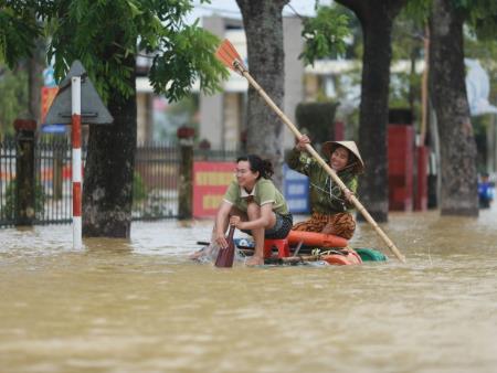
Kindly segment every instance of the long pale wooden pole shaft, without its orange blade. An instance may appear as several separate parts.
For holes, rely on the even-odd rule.
[[[288,119],[288,117],[276,106],[276,104],[271,99],[271,97],[267,96],[264,89],[257,84],[257,82],[254,81],[251,74],[248,74],[248,71],[237,60],[234,60],[233,66],[236,68],[237,72],[240,72],[240,74],[242,74],[248,81],[248,83],[254,87],[255,90],[257,90],[257,93],[264,98],[267,105],[269,105],[269,107],[279,116],[279,118],[282,118],[285,125],[287,125],[288,128],[292,130],[292,132],[294,132],[295,137],[297,139],[300,139],[302,134],[297,129],[297,127],[295,127],[295,125]],[[309,143],[306,143],[306,150],[318,161],[318,163],[325,169],[325,171],[328,172],[331,179],[340,186],[341,191],[347,190],[347,185],[343,184],[343,182],[340,180],[337,173],[328,166],[327,162],[322,160],[319,153],[316,150],[314,150],[314,148]],[[381,239],[383,239],[383,242],[387,244],[389,249],[396,256],[396,258],[400,262],[405,263],[405,257],[399,252],[393,242],[381,230],[381,227],[378,225],[374,219],[372,219],[369,212],[364,209],[362,203],[359,202],[356,195],[352,194],[350,200],[352,201],[356,209],[362,214],[362,216],[364,216],[368,223],[372,225],[374,231],[378,233]]]

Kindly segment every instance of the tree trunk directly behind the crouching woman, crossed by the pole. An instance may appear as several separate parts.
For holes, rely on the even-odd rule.
[[[279,108],[283,108],[285,82],[282,11],[288,1],[236,0],[245,28],[248,70]],[[283,126],[279,117],[250,87],[246,149],[272,161],[277,186],[283,180]]]

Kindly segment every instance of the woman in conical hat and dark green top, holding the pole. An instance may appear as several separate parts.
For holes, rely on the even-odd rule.
[[[325,160],[329,160],[330,168],[347,186],[342,192],[325,169],[305,151],[309,142],[306,135],[302,136],[286,159],[289,168],[309,177],[310,182],[311,216],[295,224],[293,230],[350,239],[356,231],[350,198],[357,191],[358,174],[364,169],[359,150],[355,141],[327,141],[322,145]]]

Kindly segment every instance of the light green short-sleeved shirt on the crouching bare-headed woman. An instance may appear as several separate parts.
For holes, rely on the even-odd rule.
[[[257,180],[250,194],[233,180],[228,186],[223,200],[235,205],[239,210],[246,212],[246,198],[248,195],[254,198],[254,202],[258,206],[272,203],[274,212],[282,215],[288,214],[288,206],[286,205],[285,198],[271,180],[264,178]]]

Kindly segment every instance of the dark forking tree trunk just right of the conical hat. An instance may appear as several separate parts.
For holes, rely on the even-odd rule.
[[[362,56],[359,150],[366,161],[359,195],[378,222],[389,212],[387,124],[389,120],[392,23],[405,0],[337,0],[359,19],[364,43]]]

